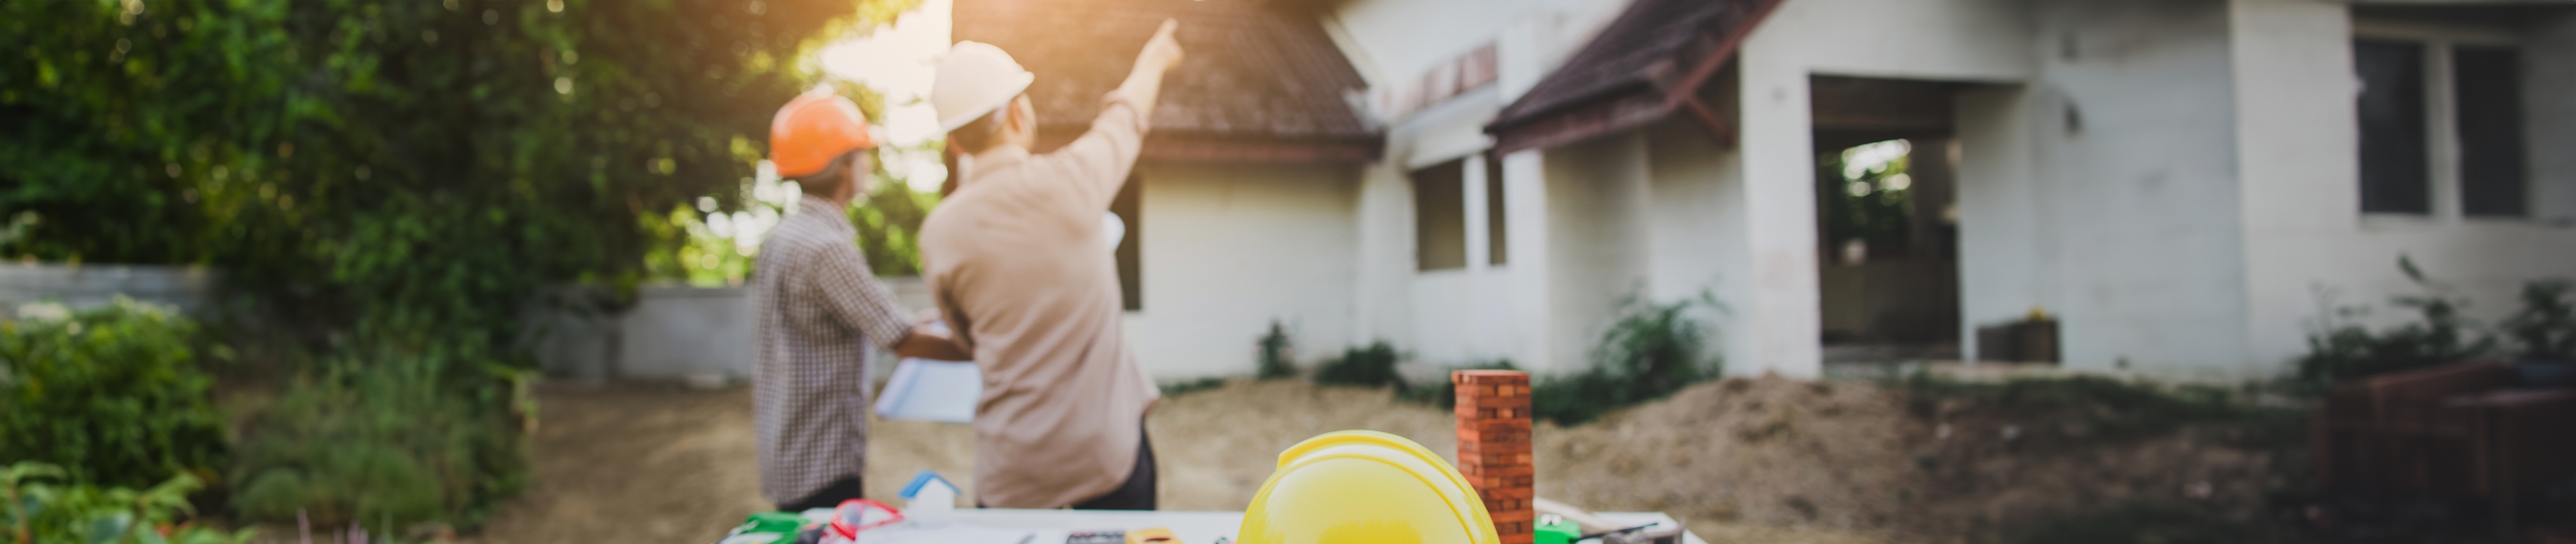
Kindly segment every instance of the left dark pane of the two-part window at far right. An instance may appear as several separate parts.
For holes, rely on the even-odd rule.
[[[2362,80],[2362,210],[2432,213],[2424,46],[2352,41],[2352,67]]]

